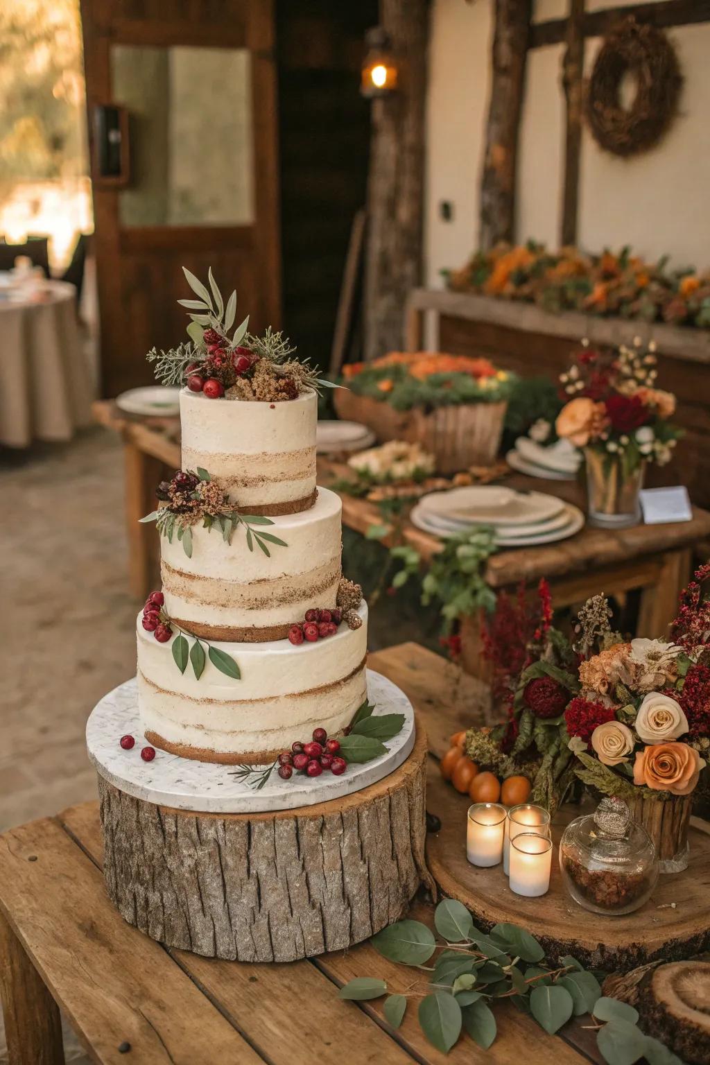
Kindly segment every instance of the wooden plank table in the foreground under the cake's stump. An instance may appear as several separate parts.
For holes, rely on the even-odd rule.
[[[448,746],[450,732],[482,720],[484,685],[415,643],[374,654],[370,665],[410,695],[435,754]],[[99,1065],[600,1061],[584,1018],[550,1036],[509,1003],[496,1006],[499,1035],[490,1050],[464,1035],[445,1056],[425,1038],[412,1006],[394,1030],[381,1000],[339,999],[337,988],[356,976],[380,977],[402,994],[413,993],[417,976],[426,980],[368,944],[281,965],[166,949],[127,924],[110,903],[101,857],[96,803],[0,837],[0,985],[10,1065],[61,1065],[60,1007]],[[431,922],[432,914],[427,901],[414,903],[412,916]]]

